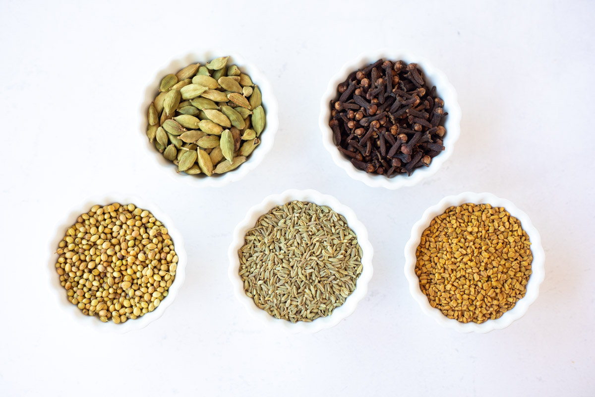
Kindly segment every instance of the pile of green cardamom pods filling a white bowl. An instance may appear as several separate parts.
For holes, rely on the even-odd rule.
[[[161,80],[149,106],[149,142],[190,175],[234,170],[258,146],[261,92],[229,57],[192,64]]]

